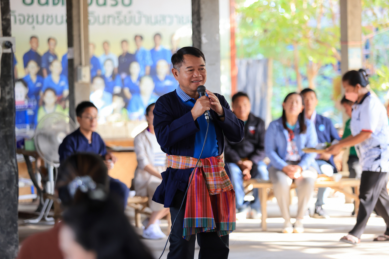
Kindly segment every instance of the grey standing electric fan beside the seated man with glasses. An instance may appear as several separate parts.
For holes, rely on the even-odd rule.
[[[60,166],[60,155],[58,148],[63,139],[76,129],[73,120],[62,113],[49,113],[44,116],[35,129],[35,148],[41,158],[47,164],[48,181],[45,186],[47,194],[54,194],[55,178],[54,170],[57,174]],[[25,223],[37,224],[45,219],[46,224],[54,224],[53,217],[49,215],[53,200],[46,198],[42,210],[36,219],[27,219]]]

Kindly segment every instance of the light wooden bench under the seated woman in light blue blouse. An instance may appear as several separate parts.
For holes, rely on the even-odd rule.
[[[258,181],[257,179],[251,179],[244,182],[244,187],[249,187],[252,184],[252,188],[257,188],[259,198],[261,200],[261,212],[262,212],[262,230],[267,231],[266,219],[267,219],[267,201],[268,201],[268,189],[273,188],[273,184],[270,181]],[[361,180],[354,178],[343,178],[340,181],[317,181],[315,182],[315,188],[329,187],[335,191],[344,193],[345,196],[354,198],[355,200],[355,216],[358,214],[359,209],[359,185]],[[354,187],[355,194],[350,193],[345,187]],[[296,188],[296,184],[292,183],[291,189]]]

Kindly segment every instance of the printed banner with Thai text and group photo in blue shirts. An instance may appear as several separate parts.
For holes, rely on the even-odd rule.
[[[144,120],[145,108],[177,87],[170,58],[192,45],[191,0],[88,5],[90,101],[99,124]],[[69,112],[66,1],[11,1],[11,21],[16,128],[25,136],[48,113]]]

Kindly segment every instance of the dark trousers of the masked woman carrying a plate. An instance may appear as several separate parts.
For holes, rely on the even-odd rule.
[[[389,195],[386,189],[388,174],[386,172],[363,171],[359,187],[359,212],[357,223],[349,232],[361,238],[366,223],[373,209],[386,223],[385,235],[389,235]]]

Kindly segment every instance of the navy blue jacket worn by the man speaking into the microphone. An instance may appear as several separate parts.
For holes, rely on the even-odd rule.
[[[226,115],[224,122],[222,122],[216,113],[210,110],[215,125],[219,155],[221,155],[224,151],[224,136],[231,142],[242,141],[244,122],[231,112],[230,106],[222,95],[215,95],[219,98]],[[193,157],[195,136],[200,129],[197,120],[193,120],[191,109],[182,103],[175,90],[159,97],[156,101],[153,111],[154,131],[162,151],[166,154]],[[228,166],[225,165],[224,168],[231,179]],[[192,170],[171,167],[166,169],[166,172],[161,174],[162,183],[156,189],[152,200],[164,204],[166,208],[170,207],[177,189],[186,190]]]

